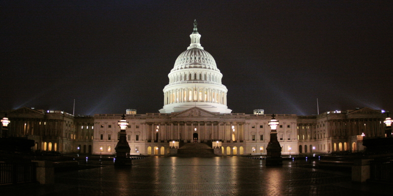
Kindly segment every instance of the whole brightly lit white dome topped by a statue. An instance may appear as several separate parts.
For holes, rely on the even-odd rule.
[[[223,74],[213,56],[200,45],[201,35],[190,35],[191,44],[176,59],[168,74],[169,84],[164,88],[164,107],[160,113],[181,112],[199,107],[210,112],[231,113],[226,106],[226,87],[221,83]]]

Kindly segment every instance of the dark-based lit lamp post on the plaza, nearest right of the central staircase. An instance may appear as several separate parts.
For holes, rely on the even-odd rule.
[[[276,120],[274,117],[276,115],[272,115],[272,119],[269,121],[268,125],[272,129],[270,132],[270,141],[266,147],[266,165],[267,166],[278,166],[282,165],[282,158],[281,158],[281,146],[280,142],[277,140],[277,131],[276,128],[279,125],[279,121]]]

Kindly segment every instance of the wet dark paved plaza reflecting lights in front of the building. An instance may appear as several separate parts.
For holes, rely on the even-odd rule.
[[[312,161],[265,167],[237,156],[148,157],[131,169],[113,166],[56,173],[53,185],[0,188],[1,196],[379,196],[390,185],[355,184],[350,172],[312,169]]]

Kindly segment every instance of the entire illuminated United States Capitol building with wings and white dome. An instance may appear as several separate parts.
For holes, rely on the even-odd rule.
[[[271,114],[231,113],[227,91],[213,56],[200,45],[197,25],[191,44],[174,61],[164,88],[159,113],[125,110],[131,155],[168,155],[179,143],[206,143],[221,147],[223,155],[265,155],[270,140]],[[218,62],[219,63],[219,62]],[[159,94],[159,92],[157,92]],[[158,109],[158,108],[157,108]],[[7,117],[8,136],[35,141],[34,150],[114,154],[122,114],[73,116],[62,111],[32,108],[0,111]],[[384,137],[385,114],[356,108],[319,115],[277,114],[282,154],[332,153],[363,149],[363,137]]]

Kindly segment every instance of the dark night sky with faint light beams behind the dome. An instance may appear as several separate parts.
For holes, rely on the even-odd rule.
[[[194,19],[232,113],[393,110],[390,0],[1,0],[0,110],[158,113]]]

